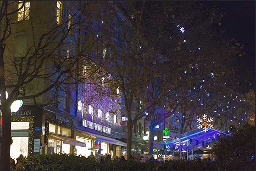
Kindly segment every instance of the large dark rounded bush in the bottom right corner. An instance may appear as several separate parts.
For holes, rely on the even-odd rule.
[[[221,135],[212,151],[219,167],[226,170],[255,170],[255,126],[230,127],[232,136]]]

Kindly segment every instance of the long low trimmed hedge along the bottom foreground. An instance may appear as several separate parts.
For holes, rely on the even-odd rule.
[[[169,160],[163,162],[146,161],[136,163],[125,160],[124,162],[109,160],[99,163],[96,159],[74,156],[71,154],[40,154],[31,156],[21,161],[18,170],[31,171],[154,171],[158,165],[159,170],[217,170],[217,164],[213,162],[200,162],[195,160]]]

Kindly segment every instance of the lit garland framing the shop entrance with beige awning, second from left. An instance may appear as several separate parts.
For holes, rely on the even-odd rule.
[[[49,123],[70,129],[70,131],[71,131],[70,137],[72,139],[74,139],[74,128],[75,127],[73,125],[70,125],[68,123],[63,123],[62,121],[56,121],[51,118],[45,118],[45,140],[44,140],[44,143],[46,144],[46,146],[48,146],[48,139],[49,139]],[[71,146],[71,152],[73,152],[72,146]]]

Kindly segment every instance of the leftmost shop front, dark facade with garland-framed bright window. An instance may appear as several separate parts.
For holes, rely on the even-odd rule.
[[[24,105],[11,113],[11,149],[13,159],[22,154],[39,154],[42,126],[42,108]]]

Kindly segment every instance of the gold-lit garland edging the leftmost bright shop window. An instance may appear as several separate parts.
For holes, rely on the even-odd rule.
[[[12,117],[11,122],[29,122],[28,126],[28,154],[33,153],[34,147],[34,116]]]

